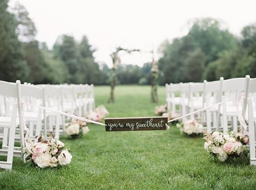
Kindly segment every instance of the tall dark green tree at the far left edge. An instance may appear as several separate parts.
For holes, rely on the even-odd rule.
[[[8,0],[0,1],[0,80],[24,81],[28,65],[24,60],[23,45],[18,40],[15,16],[8,12]]]

